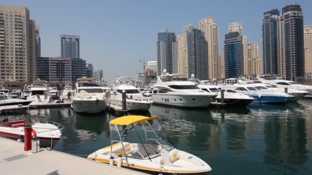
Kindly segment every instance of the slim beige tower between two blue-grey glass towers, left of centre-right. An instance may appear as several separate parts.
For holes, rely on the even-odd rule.
[[[194,25],[186,25],[183,33],[178,35],[178,73],[188,75],[187,33]]]

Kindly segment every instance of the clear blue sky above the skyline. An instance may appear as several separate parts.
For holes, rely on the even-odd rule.
[[[155,60],[157,32],[168,29],[180,34],[187,24],[198,26],[214,16],[219,26],[220,49],[232,22],[243,23],[247,41],[261,47],[264,11],[298,3],[304,24],[312,25],[311,0],[218,0],[218,1],[34,1],[0,0],[2,5],[26,6],[40,26],[42,56],[60,56],[60,35],[79,35],[81,57],[94,69],[103,69],[108,80],[117,76],[135,77],[142,72],[138,60]],[[221,53],[220,53],[221,54]]]

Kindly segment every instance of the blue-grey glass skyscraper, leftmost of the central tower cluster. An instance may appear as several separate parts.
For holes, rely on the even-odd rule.
[[[164,69],[170,74],[178,73],[177,37],[168,30],[159,32],[157,40],[157,75]]]

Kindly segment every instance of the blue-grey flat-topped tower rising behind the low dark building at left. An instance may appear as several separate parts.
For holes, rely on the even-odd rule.
[[[80,37],[61,35],[61,57],[80,58]]]

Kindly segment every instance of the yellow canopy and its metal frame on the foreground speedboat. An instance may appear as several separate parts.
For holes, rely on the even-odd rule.
[[[159,139],[162,139],[158,136],[158,134],[155,132],[155,130],[153,129],[153,125],[154,124],[150,124],[148,121],[149,120],[157,120],[158,123],[161,125],[161,123],[159,122],[158,118],[157,117],[145,117],[145,116],[124,116],[124,117],[119,117],[119,118],[116,118],[116,119],[113,119],[109,122],[109,127],[110,127],[110,138],[111,138],[111,146],[110,146],[110,156],[112,156],[112,145],[113,143],[120,143],[123,147],[123,152],[124,152],[124,156],[126,158],[126,163],[129,164],[128,162],[128,156],[127,156],[127,151],[126,151],[126,148],[124,146],[124,139],[122,138],[123,134],[125,133],[125,131],[127,130],[127,128],[129,128],[129,126],[133,126],[133,129],[135,130],[135,133],[136,135],[138,136],[147,156],[148,156],[148,159],[151,161],[151,158],[149,157],[149,154],[144,146],[144,143],[142,141],[142,139],[140,138],[139,136],[139,133],[138,131],[135,129],[135,125],[134,123],[136,124],[141,124],[143,126],[143,130],[144,130],[144,134],[145,134],[145,142],[147,143],[148,140],[154,140],[154,141],[157,141]],[[147,123],[147,126],[149,126],[151,128],[151,130],[147,130],[147,128],[144,126],[144,123]],[[118,129],[118,126],[126,126],[124,129],[121,130],[120,132],[120,129]],[[165,134],[167,135],[168,139],[170,140],[173,148],[175,148],[174,144],[172,143],[171,139],[169,138],[166,130],[163,128],[163,126],[161,125],[162,129],[164,130]],[[118,134],[118,138],[119,140],[113,140],[113,132],[112,131],[116,131],[117,134]],[[152,139],[152,138],[147,138],[147,133],[150,132],[150,133],[153,133],[155,135],[155,138],[157,139]],[[162,146],[162,145],[161,145]]]

